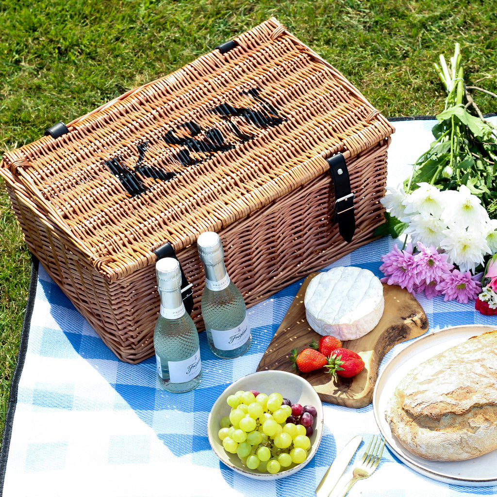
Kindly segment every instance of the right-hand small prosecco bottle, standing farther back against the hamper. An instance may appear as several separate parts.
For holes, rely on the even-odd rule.
[[[202,233],[197,247],[206,278],[201,307],[209,347],[223,359],[239,357],[252,343],[244,298],[226,271],[219,235]]]

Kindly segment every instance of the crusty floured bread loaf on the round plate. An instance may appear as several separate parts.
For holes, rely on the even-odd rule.
[[[424,459],[462,461],[497,449],[497,330],[414,367],[385,416],[400,443]]]

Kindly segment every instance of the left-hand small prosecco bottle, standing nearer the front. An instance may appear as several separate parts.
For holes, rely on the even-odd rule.
[[[176,259],[156,263],[161,312],[154,330],[160,385],[169,392],[189,392],[202,378],[198,332],[181,299],[181,272]]]

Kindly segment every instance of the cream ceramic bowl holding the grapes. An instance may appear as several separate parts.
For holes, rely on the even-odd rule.
[[[273,392],[278,392],[283,397],[289,399],[293,404],[301,404],[302,406],[310,404],[316,408],[318,415],[316,416],[313,424],[314,432],[310,437],[311,449],[307,459],[304,462],[292,465],[288,469],[280,471],[279,473],[261,473],[256,469],[251,470],[244,466],[237,454],[230,454],[225,451],[223,443],[218,437],[218,431],[220,428],[219,422],[223,416],[229,415],[231,411],[230,406],[226,403],[226,399],[229,395],[232,395],[239,390],[257,390],[258,392],[262,392],[267,395]],[[240,378],[236,382],[232,383],[216,400],[207,420],[207,434],[212,449],[219,459],[221,459],[221,461],[229,468],[233,469],[237,473],[240,473],[241,475],[247,476],[248,478],[257,480],[277,480],[279,478],[293,475],[305,467],[306,464],[308,464],[314,457],[323,434],[323,405],[321,403],[321,399],[311,384],[300,376],[293,373],[287,373],[286,371],[259,371],[257,373],[244,376],[243,378]]]

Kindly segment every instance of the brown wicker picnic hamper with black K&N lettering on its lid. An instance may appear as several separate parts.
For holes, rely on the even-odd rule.
[[[201,232],[220,234],[248,306],[371,241],[393,131],[271,18],[4,154],[0,174],[30,250],[107,346],[137,363],[154,353],[158,257],[177,256],[203,330]],[[350,181],[340,198],[335,157]],[[341,210],[351,241],[334,222]]]

